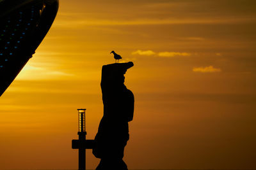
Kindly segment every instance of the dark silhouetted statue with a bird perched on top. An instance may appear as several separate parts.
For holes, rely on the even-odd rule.
[[[132,66],[132,62],[102,66],[104,114],[93,148],[93,155],[100,159],[96,170],[127,169],[123,157],[129,140],[128,122],[133,118],[134,96],[124,85],[124,74]]]

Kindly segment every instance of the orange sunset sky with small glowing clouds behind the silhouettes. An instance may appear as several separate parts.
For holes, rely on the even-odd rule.
[[[101,67],[132,61],[129,169],[256,168],[256,1],[60,0],[54,24],[0,99],[0,169],[77,169],[103,113]],[[86,153],[86,167],[99,163]]]

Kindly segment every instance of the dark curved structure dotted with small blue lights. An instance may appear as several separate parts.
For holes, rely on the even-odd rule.
[[[58,0],[0,0],[0,96],[35,53],[58,6]]]

